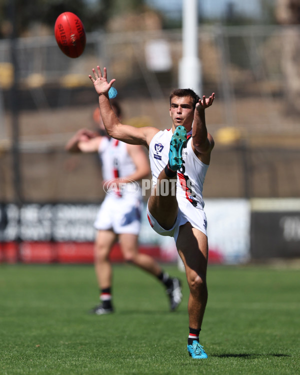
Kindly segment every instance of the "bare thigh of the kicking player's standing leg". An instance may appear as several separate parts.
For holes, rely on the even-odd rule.
[[[179,228],[176,246],[185,266],[187,280],[195,274],[205,278],[208,258],[206,235],[186,222]]]

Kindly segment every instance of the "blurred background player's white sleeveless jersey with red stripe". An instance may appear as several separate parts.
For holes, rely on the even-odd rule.
[[[127,144],[120,140],[103,137],[98,148],[98,154],[102,164],[102,177],[104,181],[111,180],[112,178],[127,177],[136,169],[134,162],[127,152]],[[127,183],[121,190],[116,190],[115,195],[132,195],[136,191],[136,187],[137,185],[134,183]]]

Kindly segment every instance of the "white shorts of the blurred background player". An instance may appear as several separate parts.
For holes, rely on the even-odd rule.
[[[130,197],[106,195],[94,221],[97,230],[113,230],[116,234],[138,234],[141,202]]]

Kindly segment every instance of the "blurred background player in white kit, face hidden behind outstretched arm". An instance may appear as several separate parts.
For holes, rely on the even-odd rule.
[[[117,101],[112,101],[112,109],[120,118],[121,109]],[[101,161],[104,186],[106,182],[109,187],[94,222],[97,229],[94,267],[100,291],[100,303],[90,312],[101,315],[114,310],[109,253],[117,238],[126,261],[151,273],[164,284],[170,309],[174,310],[182,298],[181,282],[176,277],[169,277],[151,256],[138,253],[142,196],[141,189],[137,190],[132,180],[140,181],[149,176],[147,156],[140,145],[109,138],[99,108],[94,110],[93,120],[98,125],[97,132],[85,128],[79,129],[65,146],[70,152],[97,152]]]

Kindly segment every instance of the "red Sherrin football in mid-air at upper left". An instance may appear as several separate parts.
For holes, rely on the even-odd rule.
[[[65,11],[58,15],[54,25],[55,39],[59,48],[69,57],[79,57],[86,42],[85,30],[76,14]]]

